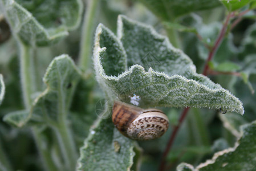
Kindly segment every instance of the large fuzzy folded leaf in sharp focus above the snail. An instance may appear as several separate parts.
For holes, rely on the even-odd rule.
[[[128,102],[137,95],[143,107],[221,107],[243,114],[241,101],[197,74],[192,60],[166,37],[123,16],[117,23],[117,37],[103,25],[97,27],[95,36],[96,78],[110,98]],[[126,61],[129,69],[124,71]]]

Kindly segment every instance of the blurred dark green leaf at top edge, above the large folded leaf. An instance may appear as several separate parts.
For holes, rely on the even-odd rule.
[[[145,6],[155,13],[163,21],[174,21],[175,18],[181,15],[189,14],[195,11],[213,9],[220,6],[217,0],[202,0],[202,1],[180,1],[180,0],[140,0]]]

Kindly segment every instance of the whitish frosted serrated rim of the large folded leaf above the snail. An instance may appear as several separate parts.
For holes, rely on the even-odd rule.
[[[108,75],[106,75],[105,71],[103,69],[103,66],[101,64],[101,60],[100,60],[100,54],[103,54],[105,52],[105,50],[107,49],[106,47],[103,47],[103,48],[100,47],[100,34],[102,32],[101,27],[104,27],[104,29],[107,29],[109,34],[112,35],[113,38],[116,38],[116,41],[118,41],[120,43],[120,46],[123,46],[123,44],[121,43],[121,38],[123,36],[123,19],[127,20],[128,22],[133,23],[134,25],[139,25],[139,26],[148,28],[151,31],[152,35],[155,36],[155,38],[163,39],[166,46],[171,48],[173,51],[176,51],[176,52],[181,53],[182,55],[185,55],[184,52],[182,52],[181,50],[179,50],[177,48],[174,48],[172,46],[172,44],[170,44],[170,42],[169,42],[168,38],[166,38],[166,36],[158,34],[152,26],[148,26],[148,25],[145,25],[143,23],[133,21],[133,20],[125,17],[124,15],[119,15],[119,17],[117,19],[117,38],[112,33],[112,31],[110,31],[108,28],[106,28],[103,24],[100,23],[99,26],[97,26],[96,32],[95,32],[94,67],[95,67],[95,71],[96,71],[97,81],[101,84],[101,87],[104,87],[104,88],[107,87],[108,88],[108,91],[106,91],[106,92],[112,92],[112,90],[109,88],[109,86],[107,86],[107,83],[105,82],[105,80],[103,80],[103,82],[101,81],[102,80],[101,77],[104,78],[104,79],[107,79],[107,80],[115,80],[117,82],[118,80],[120,80],[124,76],[126,76],[128,74],[131,74],[134,68],[140,68],[141,70],[143,70],[145,75],[151,74],[152,72],[154,72],[154,74],[162,75],[167,79],[173,79],[173,78],[184,79],[185,82],[191,82],[192,81],[192,82],[196,83],[197,86],[206,89],[206,91],[213,91],[213,92],[222,91],[222,92],[225,92],[229,96],[233,96],[227,89],[222,88],[221,86],[220,86],[220,88],[211,89],[211,88],[208,88],[207,86],[205,86],[204,84],[198,83],[196,80],[187,79],[187,78],[185,78],[184,76],[181,76],[181,75],[169,76],[169,75],[165,74],[164,72],[154,71],[152,68],[149,68],[148,72],[146,72],[144,70],[144,67],[140,66],[139,64],[134,64],[127,71],[124,71],[123,73],[119,74],[118,76],[108,76]],[[190,58],[188,58],[188,60],[190,60],[190,62],[192,62],[192,60]],[[192,70],[194,72],[193,75],[201,75],[201,74],[196,73],[196,68],[195,67],[193,67]],[[209,78],[206,77],[206,79],[208,79],[210,82],[212,82]],[[219,85],[219,84],[217,84],[217,85]],[[109,96],[109,97],[111,97],[111,96]],[[233,96],[233,97],[235,97],[235,96]],[[243,115],[244,109],[243,109],[242,102],[237,97],[235,97],[235,99],[237,99],[237,101],[239,101],[239,104],[240,104],[239,110],[235,108],[236,110],[235,109],[230,109],[230,111],[231,112],[236,111],[236,112],[240,113],[241,115]],[[197,108],[200,107],[201,108],[201,107],[208,107],[208,106],[192,105],[190,107],[197,107]],[[220,107],[221,107],[221,105],[220,105]],[[210,109],[220,109],[220,107],[209,107],[209,108]]]

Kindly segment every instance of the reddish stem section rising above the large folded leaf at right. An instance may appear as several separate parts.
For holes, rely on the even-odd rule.
[[[213,46],[212,50],[210,50],[210,52],[209,52],[209,55],[208,55],[208,58],[206,60],[206,64],[205,64],[205,67],[204,67],[204,71],[202,72],[203,75],[208,74],[209,62],[210,62],[210,60],[212,60],[212,58],[215,55],[218,47],[220,46],[220,44],[221,44],[221,42],[222,42],[222,40],[225,36],[227,25],[229,24],[230,18],[233,17],[233,15],[234,15],[234,13],[229,13],[227,15],[226,21],[225,21],[224,25],[221,28],[221,32],[218,35],[218,38],[217,38],[216,42],[214,43],[214,46]]]

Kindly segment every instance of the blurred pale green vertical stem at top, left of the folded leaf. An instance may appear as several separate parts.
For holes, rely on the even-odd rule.
[[[92,54],[92,35],[94,29],[95,14],[99,0],[88,0],[82,26],[82,39],[80,42],[79,67],[86,70]]]

